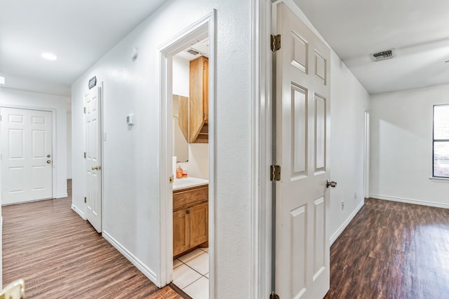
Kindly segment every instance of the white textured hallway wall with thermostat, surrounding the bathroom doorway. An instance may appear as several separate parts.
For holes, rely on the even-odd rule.
[[[167,1],[72,85],[72,161],[83,165],[83,94],[104,81],[103,235],[157,278],[160,272],[159,51],[185,27],[217,9],[215,181],[216,298],[250,289],[250,1]],[[131,61],[130,50],[140,56]],[[135,113],[128,129],[125,116]],[[239,132],[239,142],[235,141]],[[235,169],[239,169],[236,172]],[[74,167],[73,205],[84,211],[83,169]],[[217,283],[220,279],[220,283]]]

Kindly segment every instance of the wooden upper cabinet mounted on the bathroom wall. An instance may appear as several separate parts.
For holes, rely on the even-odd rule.
[[[208,143],[209,60],[200,56],[189,68],[189,142]]]

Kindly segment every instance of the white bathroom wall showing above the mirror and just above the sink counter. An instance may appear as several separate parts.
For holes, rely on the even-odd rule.
[[[173,57],[173,95],[189,97],[189,61]],[[209,179],[208,144],[189,144],[189,161],[180,163],[187,175]]]

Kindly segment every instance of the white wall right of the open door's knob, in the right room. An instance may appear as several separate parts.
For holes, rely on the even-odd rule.
[[[333,243],[363,206],[363,137],[370,97],[333,51],[330,63],[330,179],[337,182],[330,190]]]

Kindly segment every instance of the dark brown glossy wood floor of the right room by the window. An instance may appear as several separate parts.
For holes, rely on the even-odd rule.
[[[330,248],[325,298],[449,298],[449,209],[366,200]]]

